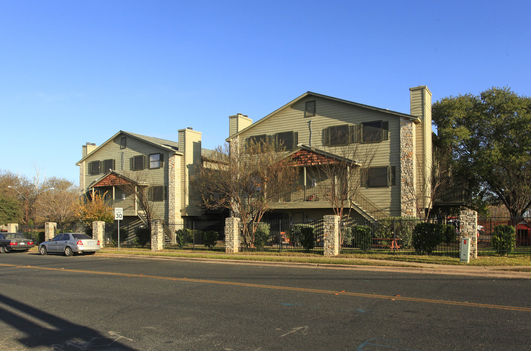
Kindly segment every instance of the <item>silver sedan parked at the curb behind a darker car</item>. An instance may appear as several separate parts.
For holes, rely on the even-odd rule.
[[[65,256],[72,256],[75,253],[95,254],[101,249],[100,242],[92,239],[84,233],[63,233],[56,235],[52,240],[45,241],[39,245],[39,253],[62,253]]]

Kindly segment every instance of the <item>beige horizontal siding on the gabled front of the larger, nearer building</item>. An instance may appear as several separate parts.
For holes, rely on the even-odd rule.
[[[306,101],[312,100],[316,102],[316,115],[305,118],[305,103]],[[310,120],[312,121],[311,123],[309,123]],[[374,111],[310,95],[294,103],[292,106],[285,108],[285,110],[280,111],[276,115],[271,116],[268,120],[258,124],[256,127],[251,128],[250,131],[243,133],[241,138],[245,139],[254,135],[270,135],[278,132],[295,131],[298,132],[299,144],[311,145],[312,147],[342,156],[342,154],[348,154],[348,152],[342,151],[344,147],[323,145],[323,129],[342,124],[360,124],[372,121],[387,121],[389,123],[389,139],[379,143],[359,143],[355,144],[355,147],[362,153],[374,152],[371,166],[395,166],[398,176],[400,167],[400,118],[399,116],[385,112]],[[399,215],[400,189],[398,179],[396,186],[387,188],[362,188],[361,193],[383,210],[390,212],[391,215]]]

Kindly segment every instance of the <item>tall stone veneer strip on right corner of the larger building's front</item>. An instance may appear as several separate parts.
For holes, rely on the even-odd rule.
[[[400,215],[416,216],[417,189],[416,126],[409,118],[400,118]]]

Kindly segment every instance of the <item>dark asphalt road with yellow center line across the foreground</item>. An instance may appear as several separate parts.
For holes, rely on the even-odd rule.
[[[531,280],[0,255],[0,350],[529,350]]]

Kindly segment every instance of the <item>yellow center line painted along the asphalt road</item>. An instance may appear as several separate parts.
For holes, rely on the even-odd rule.
[[[162,277],[162,276],[159,276],[159,275],[113,273],[113,272],[101,272],[101,271],[85,271],[85,270],[64,269],[64,268],[47,268],[47,267],[39,267],[39,266],[27,266],[27,265],[23,266],[23,265],[5,264],[5,263],[0,263],[0,266],[14,267],[14,268],[30,268],[30,269],[39,269],[39,270],[46,270],[46,271],[61,271],[61,272],[74,272],[74,273],[118,275],[120,277],[127,277],[127,278],[136,277],[136,278],[164,279],[164,280],[173,280],[173,281],[189,281],[189,282],[196,282],[196,283],[234,285],[234,286],[252,287],[252,288],[303,291],[305,293],[319,293],[319,294],[346,295],[346,296],[356,296],[356,297],[370,297],[370,298],[380,298],[380,299],[387,299],[387,300],[402,300],[402,301],[410,301],[410,302],[424,302],[424,303],[432,303],[432,304],[446,304],[446,305],[458,305],[458,306],[468,306],[468,307],[498,308],[500,310],[531,312],[531,307],[502,306],[502,305],[477,304],[477,303],[472,303],[472,302],[434,300],[434,299],[425,299],[425,298],[416,298],[416,297],[402,297],[402,296],[387,296],[387,295],[375,295],[375,294],[348,293],[347,291],[333,291],[333,290],[307,289],[307,288],[295,288],[295,287],[280,287],[280,286],[273,286],[273,285],[237,283],[237,282],[230,282],[230,281],[205,280],[205,279]]]

